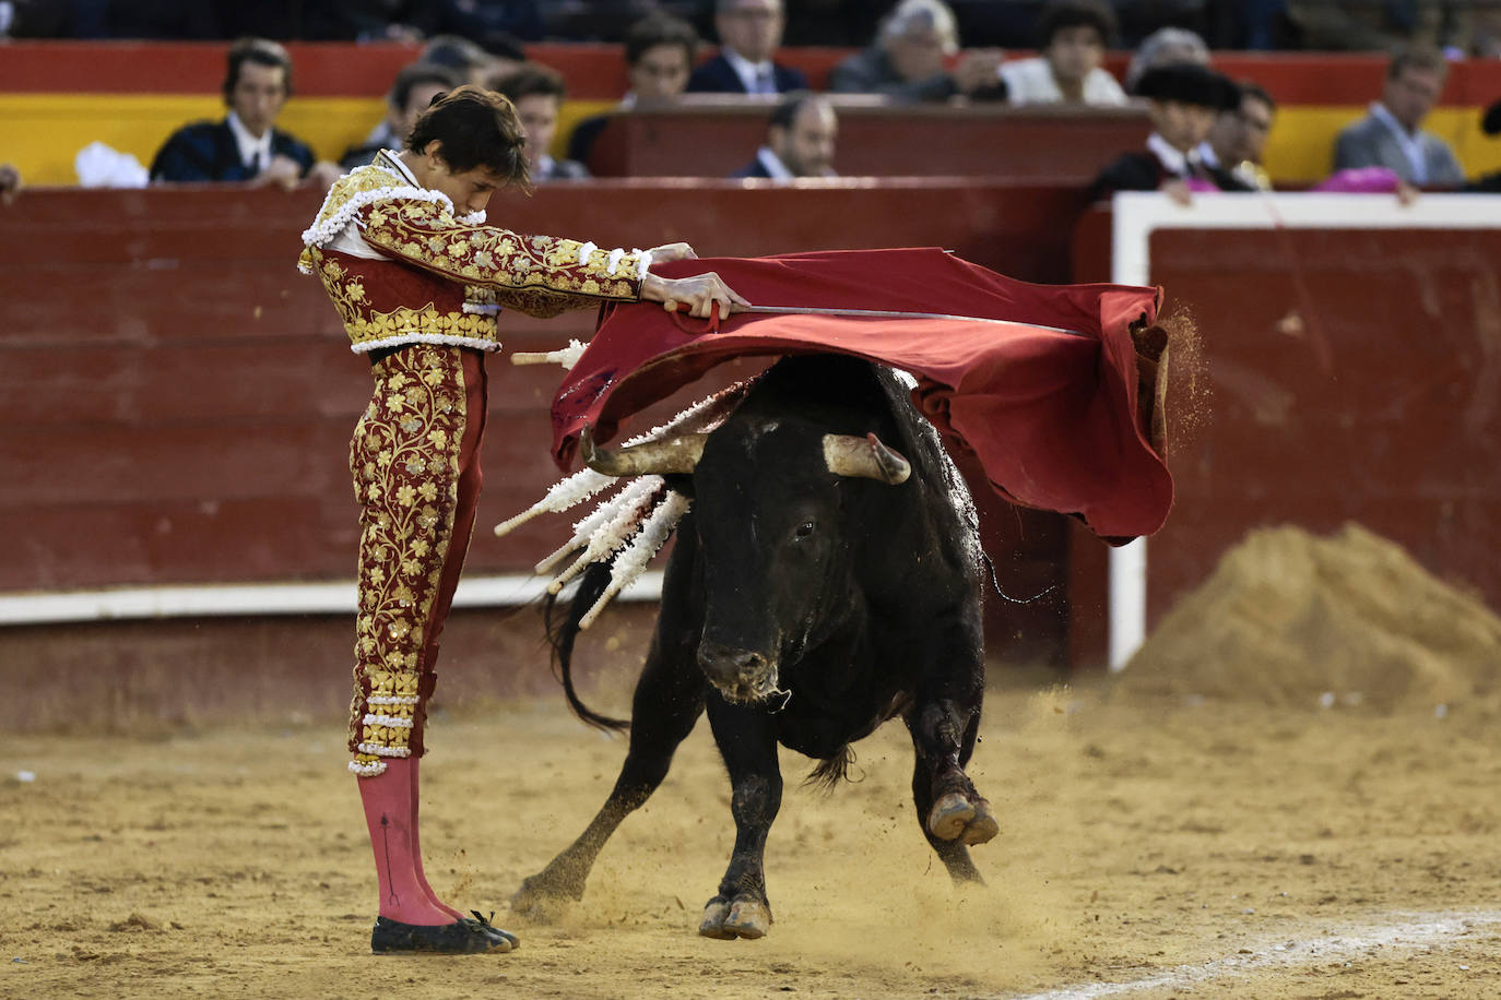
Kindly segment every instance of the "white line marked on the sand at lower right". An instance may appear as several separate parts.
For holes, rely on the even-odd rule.
[[[1154,976],[1130,982],[1090,982],[1030,993],[1012,1000],[1094,1000],[1141,990],[1177,990],[1262,969],[1289,969],[1313,963],[1372,957],[1376,949],[1415,951],[1444,948],[1475,931],[1501,924],[1501,910],[1474,913],[1387,913],[1385,919],[1330,927],[1318,937],[1288,939],[1286,934],[1243,945],[1249,955],[1228,955],[1202,966],[1174,966]]]

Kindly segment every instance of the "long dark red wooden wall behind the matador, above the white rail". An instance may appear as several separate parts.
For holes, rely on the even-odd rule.
[[[29,189],[0,208],[0,516],[26,525],[0,561],[0,591],[351,576],[345,462],[369,376],[318,283],[294,270],[318,202],[312,190]],[[1063,280],[1058,220],[1079,208],[1076,192],[1037,184],[597,181],[497,199],[491,217],[605,246],[686,238],[705,255],[938,244]],[[512,313],[503,331],[512,349],[549,349],[587,339],[591,322]],[[470,570],[527,571],[566,537],[566,519],[507,540],[488,526],[557,480],[546,403],[560,372],[503,360],[489,370]],[[1057,582],[1057,519],[982,499],[1009,592]],[[1033,606],[1019,627],[1057,648],[1061,609],[1061,597]]]

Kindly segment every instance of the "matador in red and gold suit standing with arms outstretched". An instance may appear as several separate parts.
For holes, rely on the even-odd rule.
[[[350,769],[375,853],[378,954],[518,943],[437,897],[417,832],[426,702],[474,525],[485,355],[501,346],[501,310],[650,300],[708,316],[744,304],[713,273],[651,273],[653,261],[692,258],[687,244],[609,250],[485,225],[492,192],[527,187],[524,141],[504,97],[459,87],[419,118],[405,150],[341,177],[303,232],[299,267],[323,282],[375,382],[350,444],[360,504]]]

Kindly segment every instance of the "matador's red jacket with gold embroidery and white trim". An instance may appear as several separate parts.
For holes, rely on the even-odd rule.
[[[555,316],[599,300],[636,301],[650,253],[521,235],[456,217],[395,154],[341,177],[302,235],[356,352],[402,343],[498,349],[503,307]]]

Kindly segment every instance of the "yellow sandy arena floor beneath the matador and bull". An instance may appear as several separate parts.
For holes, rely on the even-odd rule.
[[[605,699],[603,708],[609,708]],[[793,780],[761,942],[695,934],[731,843],[699,729],[563,924],[504,921],[624,744],[561,697],[440,717],[428,870],[512,955],[375,958],[338,723],[0,739],[3,997],[1495,997],[1498,717],[998,691],[971,774],[1001,837],[959,892],[911,816],[905,730],[833,798]],[[32,772],[35,780],[17,778]]]

